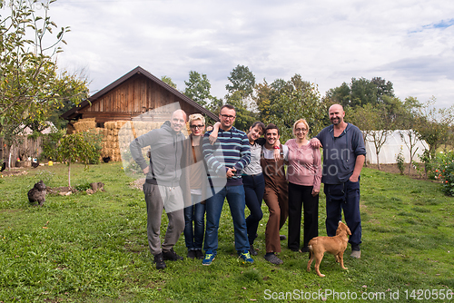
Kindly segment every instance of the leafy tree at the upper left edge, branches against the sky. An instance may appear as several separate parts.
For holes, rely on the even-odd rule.
[[[74,103],[86,97],[86,85],[82,92],[66,91],[67,79],[57,72],[55,55],[63,51],[60,45],[66,44],[69,27],[58,29],[48,15],[54,1],[0,2],[0,8],[10,10],[10,15],[0,16],[0,128],[20,125],[31,114],[32,120],[41,120],[64,106],[68,96]],[[54,30],[57,34],[50,39]]]

